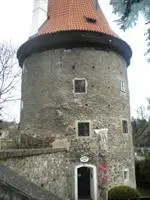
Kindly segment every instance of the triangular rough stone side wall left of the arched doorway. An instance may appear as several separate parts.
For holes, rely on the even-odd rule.
[[[10,158],[1,161],[18,175],[38,186],[67,199],[68,159],[63,153],[38,155],[32,157]]]

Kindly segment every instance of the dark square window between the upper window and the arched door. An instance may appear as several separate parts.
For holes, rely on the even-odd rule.
[[[78,122],[78,136],[89,136],[90,124],[89,122]]]

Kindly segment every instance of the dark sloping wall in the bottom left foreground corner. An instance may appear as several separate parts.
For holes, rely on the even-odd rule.
[[[55,194],[27,180],[26,177],[19,176],[14,170],[2,164],[0,164],[0,199],[60,200]]]

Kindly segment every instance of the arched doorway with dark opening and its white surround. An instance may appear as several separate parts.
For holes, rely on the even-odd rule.
[[[97,200],[96,167],[81,164],[75,167],[75,200]]]

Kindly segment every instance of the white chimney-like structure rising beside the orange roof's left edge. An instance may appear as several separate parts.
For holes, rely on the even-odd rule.
[[[34,35],[47,19],[48,0],[33,0],[32,30]]]

